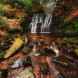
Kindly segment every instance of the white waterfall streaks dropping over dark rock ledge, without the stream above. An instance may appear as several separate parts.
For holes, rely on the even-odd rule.
[[[50,26],[52,23],[52,16],[35,14],[32,17],[30,24],[31,33],[50,33]]]

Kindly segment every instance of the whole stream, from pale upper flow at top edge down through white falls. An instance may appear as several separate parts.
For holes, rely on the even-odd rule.
[[[40,4],[43,6],[44,14],[34,14],[30,23],[31,33],[51,33],[52,14],[56,7],[58,0],[40,0]]]

